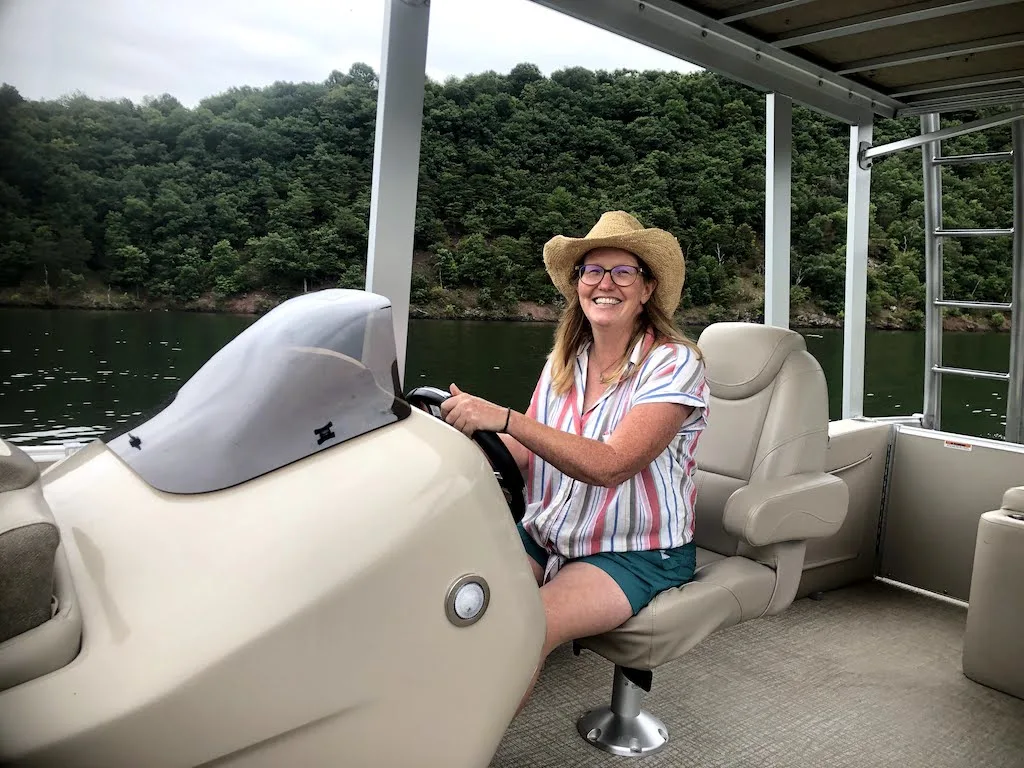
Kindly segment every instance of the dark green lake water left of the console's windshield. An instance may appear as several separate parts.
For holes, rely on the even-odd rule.
[[[253,317],[0,310],[0,423],[12,442],[97,437],[170,396]]]

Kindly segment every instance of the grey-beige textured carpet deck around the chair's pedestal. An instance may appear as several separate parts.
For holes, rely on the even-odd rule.
[[[670,740],[637,759],[578,735],[580,713],[609,700],[613,668],[566,646],[492,768],[1024,768],[1024,701],[964,676],[966,618],[868,583],[718,633],[655,671],[645,709]]]

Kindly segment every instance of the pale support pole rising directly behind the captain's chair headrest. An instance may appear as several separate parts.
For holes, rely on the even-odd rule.
[[[790,327],[793,99],[765,99],[765,325]]]

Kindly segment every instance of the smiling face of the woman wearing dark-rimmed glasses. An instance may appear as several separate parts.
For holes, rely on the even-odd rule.
[[[636,256],[620,248],[596,248],[584,257],[583,271],[577,275],[577,293],[591,326],[633,328],[656,286],[650,275],[636,271],[639,266]],[[614,271],[599,272],[599,269]],[[598,274],[600,282],[590,285],[598,280]],[[631,281],[630,285],[621,285]]]

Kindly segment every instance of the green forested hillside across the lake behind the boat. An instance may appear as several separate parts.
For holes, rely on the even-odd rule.
[[[195,109],[169,95],[31,101],[4,85],[0,300],[230,308],[248,297],[260,309],[306,289],[361,287],[376,88],[365,65],[323,83],[236,88]],[[882,121],[876,142],[918,131],[916,119]],[[795,110],[798,322],[843,308],[848,142],[846,126]],[[1010,129],[947,144],[1005,151]],[[1010,226],[1010,171],[944,171],[947,224]],[[920,152],[876,163],[872,203],[871,322],[915,327]],[[434,315],[550,314],[544,242],[623,208],[682,242],[688,319],[757,317],[763,204],[764,96],[714,75],[544,77],[520,65],[431,82],[413,301]],[[1007,238],[949,243],[946,296],[1009,300],[1010,250]]]

